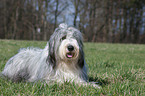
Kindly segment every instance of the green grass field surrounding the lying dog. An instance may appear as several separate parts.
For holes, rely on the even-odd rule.
[[[0,40],[0,72],[19,48],[44,48],[44,41]],[[145,96],[145,45],[84,43],[89,67],[89,81],[101,89],[82,87],[68,82],[47,85],[41,82],[13,83],[0,78],[0,95],[114,95]]]

